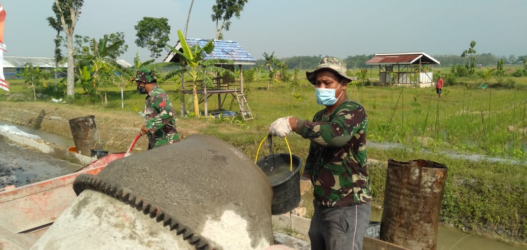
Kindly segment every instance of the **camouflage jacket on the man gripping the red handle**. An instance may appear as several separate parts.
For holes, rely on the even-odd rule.
[[[144,124],[148,129],[149,149],[179,141],[174,108],[168,94],[158,85],[144,100]]]

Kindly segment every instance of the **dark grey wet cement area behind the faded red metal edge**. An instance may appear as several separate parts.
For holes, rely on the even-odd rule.
[[[82,166],[23,148],[0,136],[0,188],[71,174]]]

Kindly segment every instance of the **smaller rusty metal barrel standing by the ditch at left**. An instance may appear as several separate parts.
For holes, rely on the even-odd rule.
[[[91,149],[99,141],[99,130],[95,116],[77,117],[69,120],[75,148],[81,155],[91,157]]]

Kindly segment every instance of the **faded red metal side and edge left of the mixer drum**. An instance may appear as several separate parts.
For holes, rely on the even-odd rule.
[[[130,155],[139,137],[135,137],[126,152],[111,153],[73,174],[22,187],[8,186],[0,191],[0,249],[26,249],[36,242],[76,199],[73,180],[80,174],[97,175],[110,162]]]

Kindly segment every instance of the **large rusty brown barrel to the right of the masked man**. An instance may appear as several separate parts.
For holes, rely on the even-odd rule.
[[[447,168],[428,160],[388,160],[380,239],[436,249]]]

